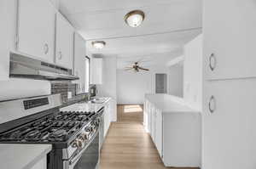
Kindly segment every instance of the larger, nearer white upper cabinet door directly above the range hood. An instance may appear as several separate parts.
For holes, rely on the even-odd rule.
[[[54,62],[55,8],[49,0],[19,0],[18,42],[20,53]]]

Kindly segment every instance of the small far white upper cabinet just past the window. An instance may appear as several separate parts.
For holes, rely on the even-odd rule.
[[[90,84],[102,84],[102,58],[90,59]]]

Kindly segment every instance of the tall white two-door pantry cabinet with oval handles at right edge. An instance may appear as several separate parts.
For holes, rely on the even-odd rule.
[[[203,3],[202,168],[256,168],[256,2]]]

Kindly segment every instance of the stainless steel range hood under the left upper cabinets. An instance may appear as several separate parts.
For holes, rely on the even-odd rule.
[[[9,76],[49,81],[73,81],[79,79],[78,76],[72,75],[71,69],[13,53],[10,54]]]

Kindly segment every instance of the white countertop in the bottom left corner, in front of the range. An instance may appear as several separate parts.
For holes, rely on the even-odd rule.
[[[0,168],[29,169],[50,150],[50,144],[0,144]]]

